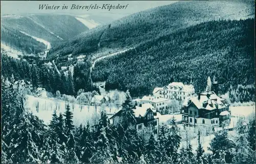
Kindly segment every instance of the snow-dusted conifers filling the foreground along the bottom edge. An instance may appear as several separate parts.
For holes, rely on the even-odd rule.
[[[2,79],[3,80],[3,79]],[[3,81],[2,81],[3,82]],[[4,83],[2,83],[4,84]],[[227,131],[217,132],[206,154],[198,134],[196,154],[186,139],[181,144],[180,129],[175,119],[170,128],[161,126],[160,134],[153,132],[145,140],[135,130],[135,118],[130,93],[122,104],[123,120],[111,124],[105,112],[95,125],[73,124],[73,113],[53,112],[52,121],[43,121],[24,108],[24,95],[17,89],[2,87],[2,161],[4,163],[254,163],[255,118],[237,126],[237,140],[228,138]]]

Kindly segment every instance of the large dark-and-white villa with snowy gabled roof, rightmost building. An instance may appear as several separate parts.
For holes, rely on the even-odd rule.
[[[182,123],[187,126],[219,127],[230,123],[229,105],[214,91],[199,93],[182,107]]]

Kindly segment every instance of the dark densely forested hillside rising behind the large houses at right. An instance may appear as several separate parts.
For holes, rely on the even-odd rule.
[[[222,93],[230,85],[255,84],[253,29],[254,19],[205,22],[101,60],[92,78],[106,80],[107,89],[130,89],[133,96],[190,78],[196,91],[203,91],[214,75]]]

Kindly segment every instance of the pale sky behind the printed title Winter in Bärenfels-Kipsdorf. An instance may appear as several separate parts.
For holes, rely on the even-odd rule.
[[[58,14],[72,14],[72,15],[82,15],[82,14],[120,14],[129,15],[135,12],[143,11],[150,8],[155,8],[157,6],[169,5],[177,1],[1,1],[1,15],[5,14],[36,14],[36,13],[58,13]],[[70,10],[70,7],[74,5],[99,5],[111,4],[111,5],[127,5],[125,10]],[[39,5],[63,5],[69,6],[68,10],[39,10]]]

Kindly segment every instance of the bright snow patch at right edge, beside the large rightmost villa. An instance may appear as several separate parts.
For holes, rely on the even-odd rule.
[[[229,107],[231,116],[244,116],[247,117],[250,114],[255,114],[255,106],[232,106]]]

